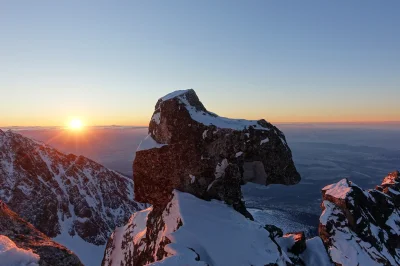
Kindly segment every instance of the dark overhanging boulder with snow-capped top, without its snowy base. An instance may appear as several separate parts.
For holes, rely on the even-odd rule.
[[[250,217],[240,186],[300,181],[285,136],[265,120],[219,117],[194,90],[159,99],[134,161],[136,200],[165,206],[172,191],[218,199]]]

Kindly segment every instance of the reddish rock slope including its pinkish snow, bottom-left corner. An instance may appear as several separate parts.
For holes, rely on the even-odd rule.
[[[3,238],[3,241],[0,241],[2,243],[8,239],[8,241],[5,242],[5,246],[9,250],[9,252],[7,252],[7,250],[0,248],[0,265],[7,265],[3,264],[5,261],[13,262],[12,256],[18,256],[16,253],[22,253],[22,257],[25,258],[25,260],[18,258],[18,260],[15,261],[19,262],[18,265],[83,265],[78,257],[70,250],[52,241],[30,223],[20,218],[2,201],[0,201],[0,237]],[[16,249],[18,252],[15,251]],[[4,257],[1,256],[2,253],[4,253]],[[29,260],[26,257],[28,257]],[[23,261],[26,263],[32,261],[32,263],[35,264],[24,264]]]

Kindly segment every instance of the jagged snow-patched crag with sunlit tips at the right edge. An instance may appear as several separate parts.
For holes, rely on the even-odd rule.
[[[400,265],[400,176],[364,191],[343,179],[322,189],[319,235],[336,265]]]

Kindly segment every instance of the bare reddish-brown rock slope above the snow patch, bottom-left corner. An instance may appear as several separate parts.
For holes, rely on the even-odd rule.
[[[0,201],[0,235],[7,236],[18,248],[31,249],[40,256],[39,265],[79,266],[78,257],[64,246],[52,241]],[[0,265],[4,265],[0,261]]]

